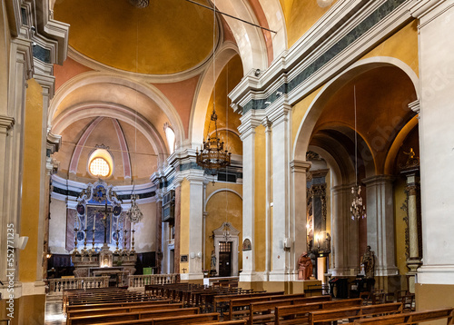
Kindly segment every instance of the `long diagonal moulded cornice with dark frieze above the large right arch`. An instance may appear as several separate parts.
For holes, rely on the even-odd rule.
[[[281,69],[271,66],[262,74],[261,78],[267,78],[269,83],[256,83],[257,87],[249,88],[248,82],[243,80],[232,91],[232,102],[242,108],[242,113],[265,109],[278,99],[278,94],[289,94],[291,104],[298,101],[301,93],[308,94],[329,80],[347,64],[351,64],[358,55],[368,51],[380,39],[411,19],[406,10],[410,0],[338,3],[337,23],[329,30],[319,26],[318,30],[311,32],[318,32],[316,38],[319,43],[314,43],[317,46],[305,51],[297,51],[298,46],[291,48],[288,57],[277,60],[282,65]],[[272,74],[268,74],[268,71]],[[250,78],[248,75],[244,79]],[[283,82],[283,78],[290,81]]]

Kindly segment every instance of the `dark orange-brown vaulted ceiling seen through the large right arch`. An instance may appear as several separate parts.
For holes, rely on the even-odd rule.
[[[415,88],[408,75],[398,67],[383,66],[359,74],[331,95],[315,125],[312,139],[323,130],[324,133],[339,128],[355,130],[354,88],[356,131],[367,143],[367,152],[370,150],[373,155],[367,157],[366,154],[362,158],[373,159],[376,172],[380,173],[397,133],[415,115],[408,107],[416,100]],[[351,143],[337,140],[350,154],[354,153],[349,149]]]

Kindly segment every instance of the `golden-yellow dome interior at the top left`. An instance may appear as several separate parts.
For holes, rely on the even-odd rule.
[[[54,18],[71,25],[75,51],[128,72],[180,73],[212,54],[212,11],[184,0],[150,1],[145,8],[127,0],[64,0],[55,3]]]

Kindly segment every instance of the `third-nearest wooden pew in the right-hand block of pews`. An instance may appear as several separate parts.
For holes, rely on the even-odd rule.
[[[347,300],[312,302],[303,305],[278,306],[274,309],[274,324],[300,324],[301,322],[309,321],[309,312],[312,311],[360,307],[361,305],[362,300],[360,298],[355,298]]]

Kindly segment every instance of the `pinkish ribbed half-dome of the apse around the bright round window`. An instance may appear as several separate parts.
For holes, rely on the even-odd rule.
[[[152,144],[128,123],[108,117],[84,118],[74,121],[61,135],[63,145],[59,152],[54,153],[54,158],[60,162],[58,172],[64,178],[69,175],[78,182],[94,182],[95,178],[88,172],[88,158],[101,145],[108,147],[114,160],[114,172],[107,180],[109,183],[148,182],[150,174],[157,168],[158,154]],[[147,163],[143,163],[143,159]]]

